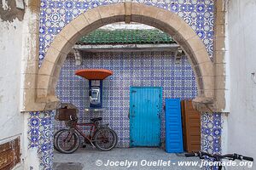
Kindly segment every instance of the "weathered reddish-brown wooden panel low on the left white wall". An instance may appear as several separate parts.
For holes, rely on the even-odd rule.
[[[0,144],[0,170],[10,170],[20,163],[20,138]]]

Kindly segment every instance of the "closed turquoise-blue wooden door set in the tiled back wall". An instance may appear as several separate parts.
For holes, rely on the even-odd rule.
[[[161,88],[130,89],[130,145],[160,146]]]

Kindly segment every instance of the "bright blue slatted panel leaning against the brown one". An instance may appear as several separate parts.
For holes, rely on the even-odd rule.
[[[180,99],[166,99],[166,152],[183,152]]]

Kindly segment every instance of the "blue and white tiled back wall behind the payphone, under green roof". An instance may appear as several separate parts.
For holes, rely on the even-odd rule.
[[[87,68],[104,68],[113,71],[113,76],[103,81],[104,122],[118,133],[119,147],[129,147],[130,122],[128,119],[130,87],[163,87],[163,98],[194,99],[195,76],[187,57],[175,64],[171,52],[97,53],[83,54],[83,65],[76,66],[71,56],[61,70],[56,95],[63,103],[72,103],[79,108],[79,120],[88,122],[94,113],[84,112],[89,107],[89,83],[74,75],[74,71]],[[163,101],[164,101],[163,99]],[[98,115],[96,115],[98,116]],[[164,117],[164,113],[163,116]],[[165,136],[162,118],[161,137]],[[55,122],[55,130],[62,122]]]

